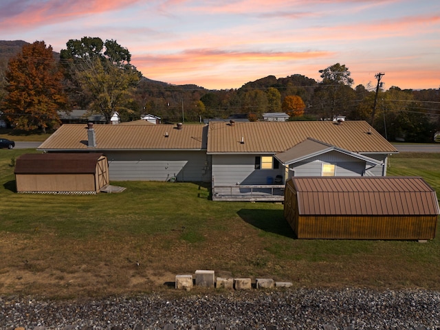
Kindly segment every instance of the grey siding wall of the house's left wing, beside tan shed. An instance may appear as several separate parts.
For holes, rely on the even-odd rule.
[[[109,151],[113,181],[211,181],[206,151]]]

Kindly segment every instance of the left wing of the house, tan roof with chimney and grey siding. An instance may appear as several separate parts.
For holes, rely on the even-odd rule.
[[[204,125],[64,124],[39,150],[102,153],[113,181],[210,182]]]

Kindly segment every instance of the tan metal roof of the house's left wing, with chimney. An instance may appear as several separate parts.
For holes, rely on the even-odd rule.
[[[206,149],[204,125],[94,125],[96,147],[87,147],[87,125],[63,124],[39,149],[109,150],[109,149]],[[168,133],[168,137],[166,134]]]

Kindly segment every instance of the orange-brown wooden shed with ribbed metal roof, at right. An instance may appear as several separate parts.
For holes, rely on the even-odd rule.
[[[439,214],[421,177],[293,177],[285,186],[298,239],[433,239]]]

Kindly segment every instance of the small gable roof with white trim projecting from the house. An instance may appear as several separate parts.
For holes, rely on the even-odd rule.
[[[359,153],[353,153],[351,151],[338,148],[337,146],[331,146],[330,144],[311,139],[310,137],[307,140],[296,144],[296,146],[290,148],[288,151],[285,151],[285,153],[276,154],[275,158],[284,165],[290,165],[296,162],[301,162],[305,159],[309,159],[311,157],[322,155],[323,153],[328,153],[329,151],[338,151],[339,153],[362,159],[365,162],[369,162],[371,164],[384,164],[380,160],[366,157],[364,155],[360,155]]]

